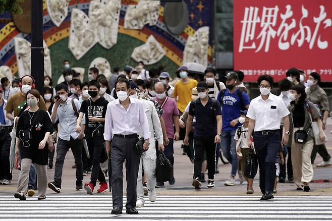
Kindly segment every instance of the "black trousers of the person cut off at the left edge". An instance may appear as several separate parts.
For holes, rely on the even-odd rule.
[[[12,138],[10,132],[12,128],[0,130],[0,180],[12,180],[10,170],[9,154]]]

